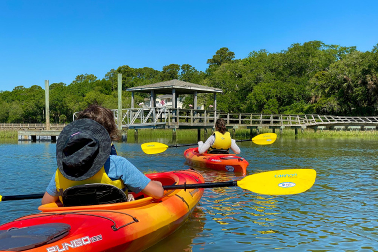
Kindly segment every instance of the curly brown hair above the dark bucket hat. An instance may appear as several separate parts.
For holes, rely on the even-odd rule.
[[[88,118],[95,120],[108,131],[110,139],[118,140],[120,132],[118,131],[116,122],[114,121],[113,112],[110,109],[100,107],[98,105],[90,105],[77,115],[77,119]]]

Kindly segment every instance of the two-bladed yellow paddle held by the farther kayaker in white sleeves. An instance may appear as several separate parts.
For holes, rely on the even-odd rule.
[[[236,140],[235,142],[246,142],[246,141],[252,141],[255,144],[258,145],[267,145],[272,144],[277,139],[277,134],[275,133],[265,133],[265,134],[259,134],[258,136],[253,137],[252,139],[246,139],[246,140]],[[165,152],[170,147],[182,147],[182,146],[194,146],[197,144],[176,144],[176,145],[165,145],[158,142],[151,142],[151,143],[144,143],[141,145],[142,151],[146,154],[157,154]]]

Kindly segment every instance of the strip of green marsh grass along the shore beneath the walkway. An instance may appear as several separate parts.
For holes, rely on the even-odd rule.
[[[232,131],[229,130],[232,134]],[[260,133],[271,133],[272,129],[269,128],[262,128],[259,131]],[[124,131],[126,133],[126,131]],[[282,133],[279,130],[276,130],[278,136],[295,136],[294,129],[284,129]],[[210,136],[211,131],[208,130],[208,136]],[[256,134],[256,130],[253,130],[253,134]],[[180,129],[176,130],[177,138],[189,138],[197,136],[196,129]],[[318,130],[314,132],[313,129],[305,129],[303,132],[298,130],[298,137],[309,137],[309,138],[321,138],[321,137],[377,137],[378,138],[378,130],[353,130],[353,131],[345,131],[345,130]],[[134,139],[135,137],[135,130],[129,129],[127,130],[127,137]],[[172,137],[172,130],[170,129],[139,129],[138,130],[138,137],[148,137],[148,138],[171,138]],[[205,132],[201,130],[201,139],[204,139]],[[237,139],[248,139],[250,137],[250,130],[246,128],[238,128],[235,130],[235,135],[233,136]],[[17,130],[0,130],[0,140],[1,139],[17,139]]]

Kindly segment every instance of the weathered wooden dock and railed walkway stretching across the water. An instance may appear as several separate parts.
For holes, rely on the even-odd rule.
[[[118,110],[112,110],[116,124],[122,122],[123,129],[171,129],[173,136],[177,129],[200,130],[214,128],[218,118],[226,121],[228,129],[234,131],[236,128],[250,129],[257,132],[262,127],[276,129],[282,133],[284,129],[298,130],[376,130],[378,117],[347,117],[328,115],[284,115],[284,114],[249,114],[249,113],[223,113],[215,110],[195,109],[171,109],[167,107],[123,109],[122,116],[118,116]],[[75,114],[74,114],[75,118]],[[67,124],[51,124],[53,130],[45,130],[45,124],[0,124],[0,129],[17,129],[20,141],[52,141],[55,142],[61,130]],[[126,137],[123,137],[125,140]]]

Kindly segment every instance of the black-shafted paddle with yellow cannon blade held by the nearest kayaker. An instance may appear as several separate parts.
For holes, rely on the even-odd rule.
[[[216,188],[216,187],[240,187],[258,194],[289,195],[304,192],[310,189],[316,179],[316,171],[313,169],[289,169],[267,171],[252,174],[241,180],[211,182],[202,184],[184,184],[163,186],[164,190]],[[0,202],[7,200],[37,199],[44,194],[1,196]]]

